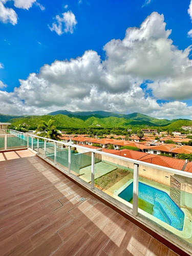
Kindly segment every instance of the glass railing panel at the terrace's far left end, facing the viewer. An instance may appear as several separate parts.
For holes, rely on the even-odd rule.
[[[9,135],[7,136],[7,150],[11,150],[14,148],[24,148],[27,147],[27,140],[25,139],[25,135]]]

